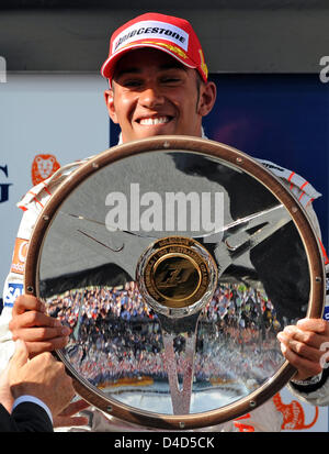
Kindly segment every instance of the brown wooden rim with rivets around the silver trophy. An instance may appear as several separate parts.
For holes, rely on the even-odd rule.
[[[70,177],[58,186],[37,218],[30,239],[25,261],[24,292],[38,297],[37,269],[39,251],[42,251],[47,230],[52,225],[52,220],[60,204],[73,189],[102,167],[117,160],[136,154],[168,151],[193,152],[223,159],[226,164],[252,176],[285,206],[299,233],[308,261],[310,294],[306,317],[320,318],[322,315],[325,301],[325,267],[319,241],[304,207],[292,192],[288,192],[288,189],[283,186],[275,175],[249,155],[219,142],[192,136],[162,135],[116,145],[91,157],[73,170]],[[246,414],[273,397],[286,385],[296,372],[295,368],[285,361],[279,370],[265,380],[263,385],[250,395],[238,399],[236,402],[216,410],[184,416],[170,416],[138,410],[115,399],[105,397],[98,388],[77,374],[60,351],[55,351],[54,354],[65,364],[68,374],[73,379],[77,394],[89,403],[95,406],[109,416],[123,421],[164,430],[189,430],[212,427]]]

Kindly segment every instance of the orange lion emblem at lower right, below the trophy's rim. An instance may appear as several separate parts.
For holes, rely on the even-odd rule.
[[[315,417],[309,424],[305,424],[305,413],[303,407],[297,400],[292,400],[291,403],[283,403],[281,400],[280,392],[273,397],[273,402],[276,409],[283,414],[283,423],[281,429],[286,430],[303,430],[311,428],[319,416],[318,407],[315,407]]]

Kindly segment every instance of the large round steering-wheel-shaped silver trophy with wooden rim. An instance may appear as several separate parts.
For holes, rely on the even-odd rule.
[[[240,417],[294,375],[276,334],[321,317],[318,240],[248,155],[158,136],[82,164],[42,211],[25,291],[71,328],[57,351],[113,421],[191,430]]]

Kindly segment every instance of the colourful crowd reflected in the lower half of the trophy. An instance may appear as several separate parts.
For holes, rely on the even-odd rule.
[[[70,290],[47,302],[48,312],[70,325],[66,352],[72,366],[91,383],[167,377],[158,318],[141,299],[136,283]],[[263,381],[282,361],[279,329],[275,310],[263,291],[220,284],[200,319],[195,380]],[[178,336],[179,374],[183,373],[183,346],[184,337]]]

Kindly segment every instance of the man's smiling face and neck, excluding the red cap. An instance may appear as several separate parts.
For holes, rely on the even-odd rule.
[[[164,52],[127,53],[116,64],[113,89],[105,92],[109,114],[120,124],[123,142],[163,134],[200,136],[215,88],[197,78],[195,69]]]

